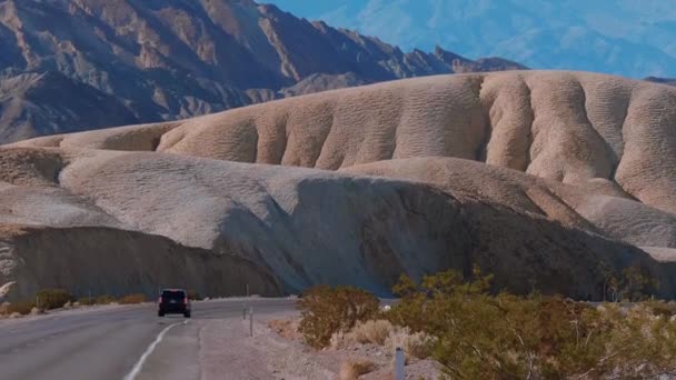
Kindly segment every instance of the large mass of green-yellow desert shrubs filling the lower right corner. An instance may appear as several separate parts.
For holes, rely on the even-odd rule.
[[[387,317],[434,337],[454,379],[645,378],[676,371],[676,322],[649,302],[593,307],[561,297],[491,294],[490,277],[447,271],[415,284]]]

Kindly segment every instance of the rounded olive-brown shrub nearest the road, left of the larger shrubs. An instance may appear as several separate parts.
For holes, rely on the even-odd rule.
[[[378,304],[374,294],[354,287],[318,286],[304,292],[298,302],[298,330],[308,344],[324,348],[335,332],[349,331],[358,321],[376,317]]]

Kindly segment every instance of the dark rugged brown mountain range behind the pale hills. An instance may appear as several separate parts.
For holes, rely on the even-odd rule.
[[[251,0],[0,0],[0,141],[172,120],[326,89],[524,69]]]

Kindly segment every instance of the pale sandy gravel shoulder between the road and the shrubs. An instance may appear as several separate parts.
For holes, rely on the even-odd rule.
[[[367,359],[377,369],[359,379],[394,379],[394,360],[382,348],[362,346],[351,350],[314,350],[298,334],[280,336],[269,327],[270,320],[296,318],[284,312],[255,320],[254,338],[248,337],[249,322],[239,318],[206,321],[200,329],[199,361],[201,379],[338,379],[340,366],[349,359]],[[436,379],[433,361],[411,361],[407,379]]]

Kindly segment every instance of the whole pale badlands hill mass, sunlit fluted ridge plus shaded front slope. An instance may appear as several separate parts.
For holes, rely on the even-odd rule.
[[[637,264],[676,296],[675,128],[676,89],[644,81],[402,80],[17,143],[0,220],[159,234],[287,291],[477,263],[498,287],[599,298],[600,267]]]

